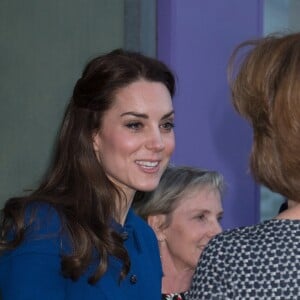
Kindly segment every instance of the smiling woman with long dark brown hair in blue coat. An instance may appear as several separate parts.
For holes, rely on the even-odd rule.
[[[1,215],[7,299],[159,299],[153,231],[130,208],[159,183],[173,152],[174,76],[115,50],[77,81],[45,179]]]

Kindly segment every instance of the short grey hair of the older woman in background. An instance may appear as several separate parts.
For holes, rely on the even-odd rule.
[[[154,191],[137,193],[133,208],[144,220],[152,215],[166,215],[166,223],[163,224],[166,228],[171,222],[172,212],[184,201],[185,195],[207,186],[222,196],[223,176],[216,171],[191,166],[169,166]]]

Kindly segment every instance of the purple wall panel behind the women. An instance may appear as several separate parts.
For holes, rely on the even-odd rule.
[[[158,0],[158,57],[178,77],[173,162],[220,171],[224,228],[259,220],[248,171],[251,129],[233,110],[226,65],[241,41],[261,35],[261,0]]]

